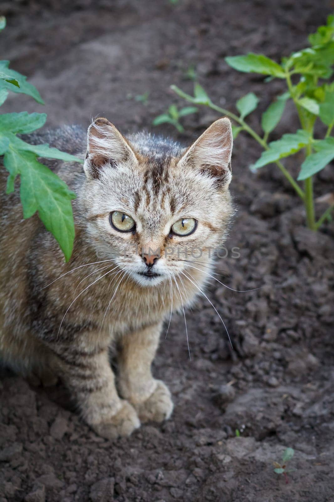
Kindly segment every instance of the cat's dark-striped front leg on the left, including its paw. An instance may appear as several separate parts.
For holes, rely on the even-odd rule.
[[[100,436],[128,436],[140,426],[134,408],[118,397],[108,347],[57,346],[62,379],[77,400],[81,415]]]

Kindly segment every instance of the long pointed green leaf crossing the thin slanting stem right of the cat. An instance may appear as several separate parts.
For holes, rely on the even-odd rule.
[[[296,134],[284,134],[280,140],[269,143],[269,150],[262,153],[252,168],[258,169],[283,157],[288,157],[305,147],[309,141],[309,134],[302,129],[298,129]]]

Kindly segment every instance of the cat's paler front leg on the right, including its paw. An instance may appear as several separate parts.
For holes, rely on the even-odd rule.
[[[119,354],[118,387],[142,422],[162,422],[170,418],[173,402],[168,387],[151,373],[161,323],[124,335]]]

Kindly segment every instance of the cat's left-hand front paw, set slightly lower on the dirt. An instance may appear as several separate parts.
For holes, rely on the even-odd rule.
[[[99,424],[91,424],[91,427],[103,438],[116,439],[119,436],[129,436],[140,427],[140,421],[135,409],[127,401],[122,401],[122,407],[116,415]]]

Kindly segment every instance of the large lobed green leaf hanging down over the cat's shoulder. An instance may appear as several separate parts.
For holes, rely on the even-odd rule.
[[[19,173],[21,175],[20,195],[24,218],[30,218],[38,211],[46,229],[56,237],[68,261],[74,242],[71,200],[75,194],[55,173],[38,162],[32,152],[7,152],[5,167],[10,170],[12,179]]]

